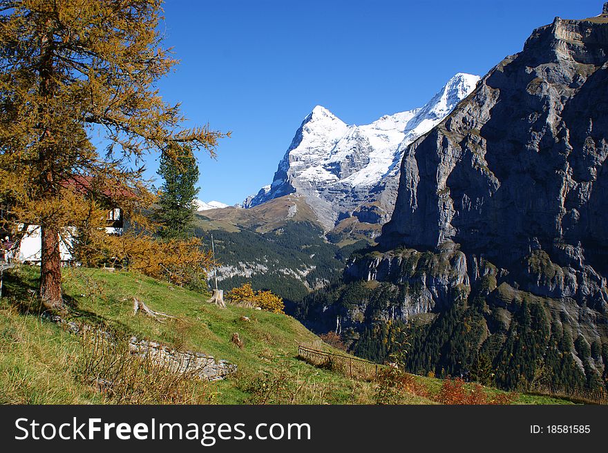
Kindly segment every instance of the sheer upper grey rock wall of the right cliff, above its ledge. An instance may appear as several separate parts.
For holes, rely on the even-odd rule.
[[[606,311],[608,24],[556,18],[406,150],[381,244],[459,244]]]

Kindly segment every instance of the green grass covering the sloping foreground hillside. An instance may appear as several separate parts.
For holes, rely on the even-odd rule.
[[[82,338],[35,314],[32,291],[37,275],[37,269],[21,267],[5,276],[4,297],[0,302],[0,403],[112,403],[99,394],[95,386],[79,378],[83,360],[90,355]],[[64,269],[63,279],[65,298],[73,307],[68,315],[70,320],[102,325],[117,334],[117,338],[134,334],[176,349],[202,351],[238,365],[238,373],[226,380],[193,387],[192,391],[204,396],[205,401],[374,403],[374,383],[352,380],[296,358],[298,345],[336,350],[291,316],[232,305],[220,309],[207,303],[206,296],[199,293],[122,271]],[[133,297],[155,311],[176,318],[161,323],[146,316],[135,316]],[[32,314],[28,314],[29,310]],[[249,321],[243,320],[243,316]],[[234,333],[245,343],[243,349],[231,343]],[[430,393],[441,387],[439,379],[418,378]],[[500,390],[488,389],[488,392]],[[150,395],[146,398],[135,402],[171,402],[155,401]],[[519,395],[515,402],[564,401]],[[433,401],[406,395],[403,403],[433,404]]]

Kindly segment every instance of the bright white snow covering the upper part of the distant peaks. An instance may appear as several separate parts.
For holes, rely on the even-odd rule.
[[[363,126],[347,125],[323,106],[313,108],[301,126],[301,137],[296,135],[276,173],[277,180],[251,199],[251,206],[274,197],[287,180],[298,181],[297,186],[322,189],[336,187],[336,191],[352,187],[372,187],[383,177],[396,174],[406,146],[435,127],[477,85],[477,75],[458,73],[423,107],[384,115]],[[354,153],[367,158],[363,168],[352,166]],[[343,175],[343,168],[354,169]],[[278,191],[281,193],[281,191]],[[249,200],[249,199],[248,199]],[[248,202],[246,200],[246,202]]]

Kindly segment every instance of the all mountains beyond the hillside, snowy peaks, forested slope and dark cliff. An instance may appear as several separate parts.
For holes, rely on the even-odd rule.
[[[200,213],[199,233],[221,237],[220,280],[283,293],[359,356],[506,389],[600,388],[607,112],[608,4],[556,17],[422,108],[349,126],[316,106],[272,184]]]

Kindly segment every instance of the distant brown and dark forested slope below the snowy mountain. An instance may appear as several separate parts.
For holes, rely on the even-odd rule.
[[[285,198],[264,206],[281,204]],[[242,218],[243,224],[229,223],[236,219],[235,214],[242,212],[259,213],[254,209],[218,209],[205,211],[196,218],[195,234],[207,244],[213,235],[220,263],[217,269],[220,288],[231,289],[250,282],[254,289],[270,289],[285,298],[290,313],[294,304],[310,291],[339,280],[350,253],[367,245],[365,241],[342,248],[331,244],[325,240],[321,225],[306,221],[305,216],[304,220],[294,216],[295,220],[276,222],[274,229],[269,228],[272,222],[260,225],[256,218]],[[225,217],[214,220],[207,213]],[[213,273],[209,278],[213,278]]]

